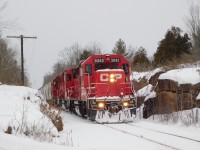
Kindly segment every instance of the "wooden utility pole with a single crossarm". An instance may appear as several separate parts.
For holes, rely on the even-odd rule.
[[[7,38],[18,38],[21,39],[21,80],[22,80],[22,85],[24,85],[24,52],[23,52],[23,40],[24,39],[37,39],[37,37],[28,37],[28,36],[7,36]]]

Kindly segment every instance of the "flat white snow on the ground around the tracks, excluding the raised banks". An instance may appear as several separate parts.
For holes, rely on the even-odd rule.
[[[169,136],[160,135],[146,129],[161,131],[165,133],[176,134],[179,136],[186,136],[200,140],[200,129],[196,127],[183,127],[174,124],[166,125],[162,123],[155,123],[153,120],[135,120],[130,125],[139,126],[145,129],[135,128],[134,126],[127,126],[126,124],[110,124],[120,130],[128,131],[137,134],[139,137],[130,134],[122,133],[107,126],[96,124],[90,120],[83,119],[68,112],[63,112],[64,130],[61,131],[60,137],[68,137],[68,144],[66,146],[59,146],[49,143],[35,142],[23,137],[15,137],[0,133],[0,149],[4,150],[170,150],[162,145],[145,140],[144,138],[154,138],[153,140],[160,140],[165,143],[172,141],[171,145],[181,146],[182,149],[187,150],[188,145],[193,144],[190,141],[174,141]],[[109,126],[110,126],[109,125]],[[190,150],[198,150],[200,144],[194,143],[190,145]],[[185,148],[184,148],[185,147]]]

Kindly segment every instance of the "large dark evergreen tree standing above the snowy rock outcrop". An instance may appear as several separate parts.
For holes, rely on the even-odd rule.
[[[188,34],[181,35],[178,27],[172,27],[167,31],[165,38],[159,42],[154,54],[154,64],[165,64],[167,61],[181,58],[183,53],[190,53],[191,42]]]

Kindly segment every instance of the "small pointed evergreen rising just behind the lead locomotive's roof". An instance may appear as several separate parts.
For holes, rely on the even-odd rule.
[[[119,39],[115,43],[115,47],[112,50],[113,53],[119,54],[119,55],[124,55],[126,53],[126,44],[122,39]]]

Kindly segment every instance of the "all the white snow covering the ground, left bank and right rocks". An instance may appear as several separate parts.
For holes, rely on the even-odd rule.
[[[200,82],[200,68],[193,67],[177,69],[176,71],[168,71],[161,75],[162,79],[173,79],[181,83],[196,84]],[[146,73],[133,73],[137,80],[142,77],[149,79],[155,73],[161,71],[156,69],[152,72]],[[177,75],[178,74],[178,75]],[[184,77],[184,78],[183,78]],[[152,85],[148,85],[137,92],[140,96],[155,96],[155,92],[152,90]],[[136,118],[132,123],[132,126],[127,124],[109,124],[111,127],[122,130],[122,132],[109,128],[106,125],[94,123],[90,120],[83,119],[68,112],[62,112],[64,129],[61,132],[57,132],[51,121],[45,117],[39,108],[41,102],[40,93],[37,90],[21,87],[21,86],[8,86],[0,85],[0,150],[170,150],[164,145],[160,145],[145,138],[151,140],[158,140],[161,143],[168,143],[170,141],[171,146],[178,146],[179,149],[197,150],[200,147],[200,142],[194,142],[189,140],[175,140],[175,138],[169,135],[163,135],[148,131],[147,129],[156,130],[159,132],[165,132],[170,134],[176,134],[200,141],[200,126],[198,124],[185,126],[181,121],[177,124],[166,124],[160,122],[159,116],[152,116],[147,120]],[[199,96],[197,97],[197,99]],[[195,109],[195,111],[199,109]],[[188,114],[191,112],[185,111],[182,113],[182,120],[189,119]],[[184,114],[185,113],[185,114]],[[23,115],[25,114],[25,115]],[[190,113],[191,114],[191,113]],[[23,117],[25,116],[25,117]],[[141,115],[138,115],[141,116]],[[25,134],[20,133],[20,122],[23,118],[26,118],[27,126],[35,124],[38,128],[49,126],[51,128],[51,134],[55,138],[49,141],[39,140],[43,142],[34,141],[33,136],[27,137]],[[41,124],[41,120],[43,123]],[[8,126],[15,126],[12,135],[5,134]],[[136,128],[134,126],[139,126]],[[40,131],[40,130],[38,130]],[[124,132],[123,132],[124,131]],[[133,136],[136,134],[137,136]],[[53,144],[54,143],[54,144]]]

